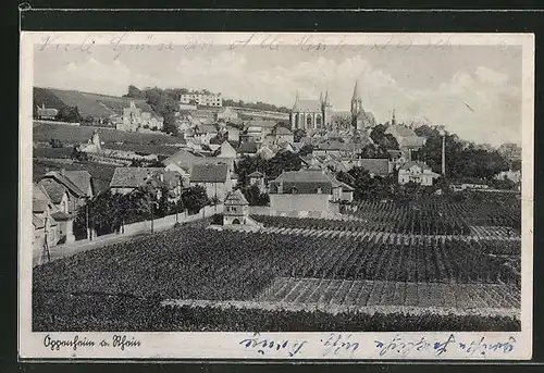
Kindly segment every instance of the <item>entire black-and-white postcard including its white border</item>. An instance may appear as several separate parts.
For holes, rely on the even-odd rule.
[[[532,35],[25,34],[29,355],[530,358]]]

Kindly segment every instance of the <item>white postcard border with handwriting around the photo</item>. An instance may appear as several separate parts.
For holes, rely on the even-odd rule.
[[[252,333],[33,333],[32,332],[32,88],[35,45],[63,43],[85,47],[110,45],[112,48],[132,45],[137,48],[165,48],[169,45],[186,48],[205,48],[206,45],[227,45],[242,48],[244,45],[260,45],[272,48],[281,45],[299,45],[312,48],[339,48],[342,45],[495,45],[522,46],[522,295],[521,332],[517,333],[342,333],[343,338],[357,341],[354,353],[326,352],[324,344],[331,333],[263,333],[260,338],[289,340],[286,349],[264,355],[256,349],[245,348],[242,340],[251,338]],[[272,45],[273,43],[273,45]],[[136,47],[135,47],[136,46]],[[139,46],[139,47],[138,47]],[[121,50],[121,49],[120,49]],[[20,88],[20,211],[18,211],[18,355],[22,359],[466,359],[466,360],[524,360],[532,356],[532,278],[533,278],[533,128],[534,128],[534,35],[533,34],[338,34],[338,33],[40,33],[23,32],[21,35],[21,88]],[[139,340],[139,347],[121,349],[111,346],[114,335],[125,335],[127,340]],[[49,339],[48,339],[49,336]],[[95,341],[94,347],[52,348],[48,340]],[[421,338],[431,348],[410,353],[380,356],[376,340],[387,343],[395,337],[405,341]],[[505,353],[502,349],[485,355],[454,348],[437,355],[433,344],[449,338],[455,341],[507,343],[515,338],[515,348]],[[134,338],[134,339],[133,339]],[[110,343],[100,347],[101,341]],[[296,344],[304,345],[295,356]],[[46,346],[48,345],[48,346]],[[295,347],[293,347],[295,346]],[[289,349],[290,348],[290,349]]]

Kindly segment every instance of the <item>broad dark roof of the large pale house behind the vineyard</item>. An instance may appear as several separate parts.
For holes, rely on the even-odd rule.
[[[300,171],[283,172],[277,178],[270,183],[270,192],[279,194],[279,187],[283,185],[282,194],[322,194],[332,192],[333,183],[329,175],[320,169],[308,169]]]

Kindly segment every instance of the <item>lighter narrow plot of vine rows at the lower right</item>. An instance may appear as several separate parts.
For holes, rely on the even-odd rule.
[[[448,309],[520,308],[515,287],[279,277],[256,300],[338,304],[348,308],[399,306]]]

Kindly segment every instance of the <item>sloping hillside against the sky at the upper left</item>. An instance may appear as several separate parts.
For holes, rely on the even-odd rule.
[[[133,100],[141,111],[153,112],[145,100],[115,97],[99,94],[64,90],[55,88],[34,87],[34,108],[45,104],[46,108],[61,110],[65,107],[77,107],[83,117],[110,117],[113,114],[122,115],[123,108],[127,108]]]

